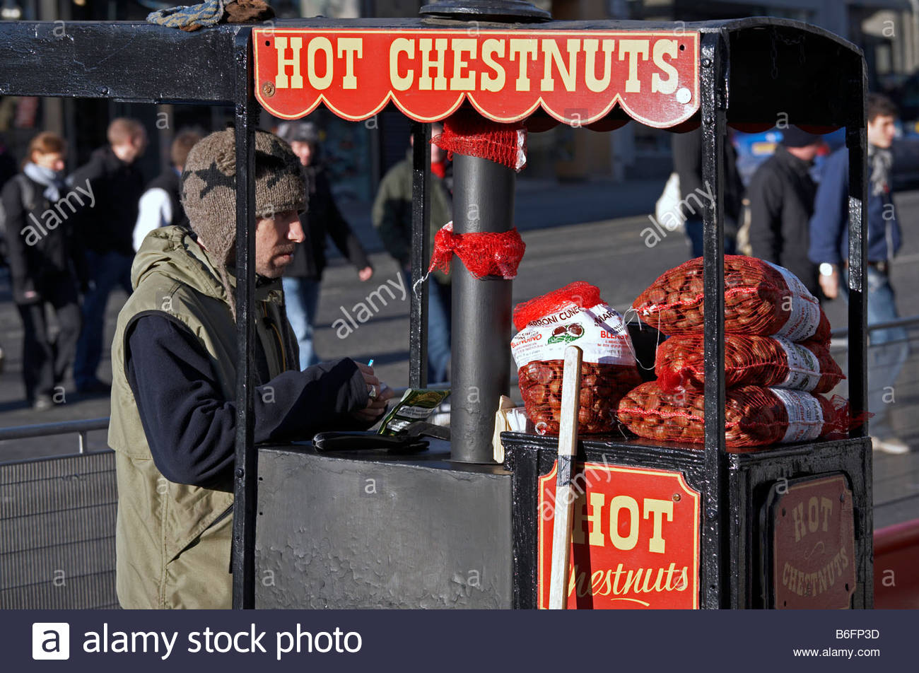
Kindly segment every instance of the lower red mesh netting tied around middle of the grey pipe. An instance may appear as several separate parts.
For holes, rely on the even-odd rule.
[[[527,244],[516,228],[498,233],[454,234],[453,222],[448,222],[434,235],[434,253],[427,272],[439,268],[449,273],[450,260],[455,254],[473,278],[501,276],[510,280],[516,278],[526,250]]]

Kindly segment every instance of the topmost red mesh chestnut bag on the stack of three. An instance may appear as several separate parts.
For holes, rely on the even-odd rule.
[[[705,321],[702,257],[672,268],[632,308],[666,335],[698,334]],[[791,341],[828,341],[820,303],[788,269],[743,255],[724,256],[724,331]]]

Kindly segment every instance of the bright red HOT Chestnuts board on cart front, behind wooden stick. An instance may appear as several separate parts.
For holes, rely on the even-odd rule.
[[[669,470],[578,468],[568,609],[698,609],[698,491]],[[539,479],[539,608],[549,606],[557,469]]]

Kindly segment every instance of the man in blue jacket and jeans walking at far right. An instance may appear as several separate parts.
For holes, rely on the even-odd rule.
[[[891,196],[891,144],[897,108],[890,98],[868,94],[868,327],[899,317],[891,285],[891,260],[900,249],[900,222]],[[820,285],[829,299],[848,301],[849,153],[840,148],[826,160],[811,218],[808,256],[820,265]],[[907,453],[910,448],[888,424],[887,395],[909,357],[902,327],[868,333],[868,410],[874,448]]]

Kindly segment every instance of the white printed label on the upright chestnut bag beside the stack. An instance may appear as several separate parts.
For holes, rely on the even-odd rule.
[[[584,352],[584,362],[633,366],[629,332],[622,316],[606,303],[588,309],[573,303],[534,320],[511,340],[517,369],[534,360],[564,359],[573,344]]]

